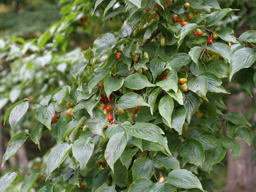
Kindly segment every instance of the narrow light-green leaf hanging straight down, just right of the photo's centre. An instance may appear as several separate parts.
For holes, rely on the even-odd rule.
[[[172,120],[172,110],[174,104],[172,97],[166,94],[164,97],[161,98],[158,105],[158,110],[160,115],[165,118],[167,125],[171,127],[171,120]]]

